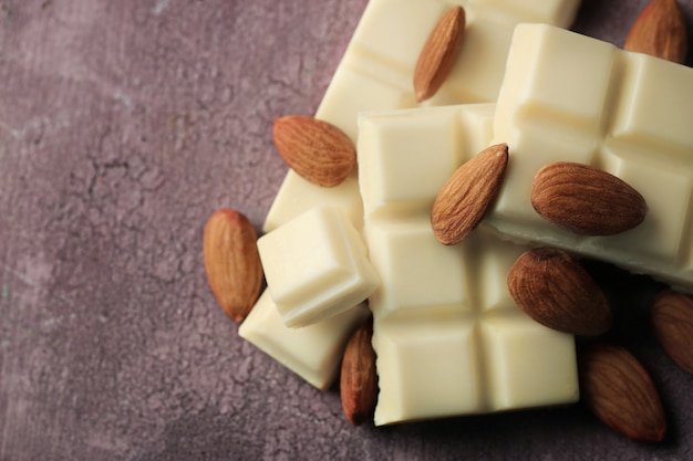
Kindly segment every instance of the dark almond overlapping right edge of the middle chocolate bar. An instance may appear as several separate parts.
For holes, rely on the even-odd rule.
[[[613,323],[599,285],[562,250],[538,248],[525,252],[510,268],[508,290],[527,315],[559,332],[596,336]]]

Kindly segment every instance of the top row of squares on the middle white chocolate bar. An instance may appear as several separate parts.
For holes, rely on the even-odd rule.
[[[359,148],[365,146],[368,151],[358,159],[366,218],[428,212],[465,155],[488,147],[494,107],[470,104],[363,114]]]

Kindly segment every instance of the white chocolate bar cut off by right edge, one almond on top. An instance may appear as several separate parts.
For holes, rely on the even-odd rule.
[[[510,163],[486,222],[507,238],[559,247],[693,290],[693,69],[540,24],[518,25],[494,122]],[[588,164],[648,202],[639,227],[578,235],[530,203],[535,172]]]

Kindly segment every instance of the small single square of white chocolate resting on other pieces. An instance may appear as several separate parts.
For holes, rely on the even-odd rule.
[[[360,233],[316,207],[258,240],[267,286],[285,324],[300,327],[363,302],[379,284]]]

